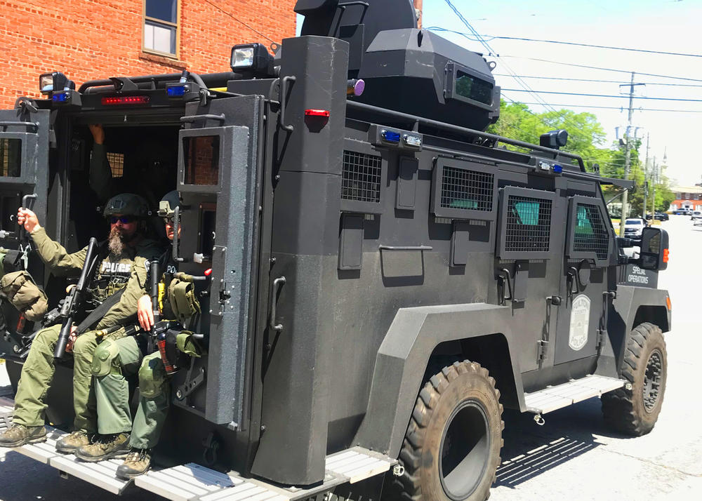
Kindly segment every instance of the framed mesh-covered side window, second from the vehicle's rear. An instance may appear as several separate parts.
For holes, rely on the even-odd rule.
[[[494,217],[495,175],[491,168],[456,159],[437,159],[433,174],[432,212],[439,218]]]

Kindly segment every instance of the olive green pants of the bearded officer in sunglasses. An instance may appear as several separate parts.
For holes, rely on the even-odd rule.
[[[24,366],[15,395],[13,422],[25,426],[44,425],[46,419],[46,394],[55,372],[53,350],[61,326],[39,330]],[[120,331],[118,331],[120,332]],[[94,332],[78,336],[73,345],[73,410],[74,429],[85,433],[97,432],[95,420],[95,394],[91,391],[91,362],[98,346]]]

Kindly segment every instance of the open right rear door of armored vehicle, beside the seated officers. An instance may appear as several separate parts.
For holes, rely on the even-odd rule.
[[[237,429],[244,422],[249,325],[258,277],[258,187],[264,100],[251,95],[189,103],[180,121],[178,191],[183,200],[180,269],[202,275],[201,322],[208,355],[174,382],[179,401],[207,420]],[[254,284],[254,285],[252,285]],[[185,371],[181,371],[182,373]],[[183,378],[186,378],[183,380]],[[206,381],[206,384],[201,384]]]

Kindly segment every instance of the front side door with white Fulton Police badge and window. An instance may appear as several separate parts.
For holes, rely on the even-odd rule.
[[[602,199],[569,196],[567,207],[555,364],[597,354],[614,239]]]

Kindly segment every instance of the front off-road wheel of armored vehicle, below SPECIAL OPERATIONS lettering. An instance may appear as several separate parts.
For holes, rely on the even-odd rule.
[[[633,436],[654,429],[665,394],[667,359],[661,328],[647,322],[631,331],[621,368],[631,389],[602,395],[602,414],[610,427]]]

